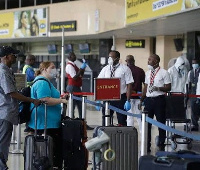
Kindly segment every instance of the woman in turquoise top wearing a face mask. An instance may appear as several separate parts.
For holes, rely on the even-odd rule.
[[[44,78],[45,80],[38,80],[31,87],[31,97],[47,102],[47,135],[53,138],[53,166],[62,168],[62,140],[61,140],[61,103],[67,104],[66,99],[60,98],[59,91],[50,82],[56,76],[56,68],[53,62],[42,62],[39,70],[36,71],[36,78]],[[33,108],[33,105],[31,105]],[[37,129],[38,133],[44,131],[44,105],[37,109]],[[31,119],[28,126],[35,129],[35,109],[31,114]]]

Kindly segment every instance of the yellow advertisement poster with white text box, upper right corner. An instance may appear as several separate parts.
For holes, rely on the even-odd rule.
[[[196,8],[200,0],[126,0],[126,24]]]

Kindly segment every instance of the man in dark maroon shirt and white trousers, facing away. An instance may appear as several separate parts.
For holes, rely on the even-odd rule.
[[[132,55],[126,56],[127,66],[131,69],[134,83],[132,85],[132,93],[137,94],[142,92],[142,84],[145,80],[144,70],[140,67],[135,66],[135,59]],[[141,114],[142,111],[138,109],[138,105],[140,104],[140,97],[132,96],[131,97],[131,113]],[[137,118],[139,130],[141,133],[142,123],[141,118]],[[133,116],[127,116],[127,126],[134,126]]]

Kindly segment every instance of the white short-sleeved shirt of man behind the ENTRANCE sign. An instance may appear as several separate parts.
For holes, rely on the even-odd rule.
[[[98,78],[111,78],[111,70],[112,66],[105,66],[99,73]],[[119,64],[116,66],[114,77],[121,78],[121,94],[127,92],[127,84],[134,82],[130,68],[124,64]]]

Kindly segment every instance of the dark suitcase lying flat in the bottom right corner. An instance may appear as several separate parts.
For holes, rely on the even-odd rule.
[[[178,157],[141,156],[139,170],[197,170],[200,162]]]

